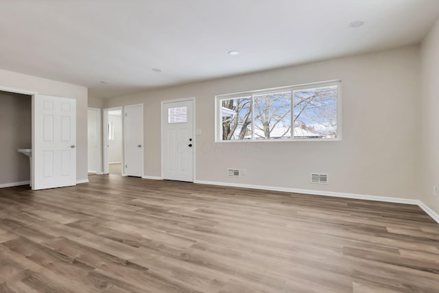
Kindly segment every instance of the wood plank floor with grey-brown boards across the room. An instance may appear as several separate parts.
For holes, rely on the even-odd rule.
[[[439,292],[416,206],[90,180],[0,189],[0,292]]]

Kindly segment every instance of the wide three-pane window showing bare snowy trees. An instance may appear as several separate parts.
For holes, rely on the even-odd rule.
[[[340,139],[340,81],[216,98],[217,141]]]

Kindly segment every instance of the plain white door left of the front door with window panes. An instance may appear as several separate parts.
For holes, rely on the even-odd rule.
[[[123,140],[126,176],[143,176],[143,105],[125,107]]]

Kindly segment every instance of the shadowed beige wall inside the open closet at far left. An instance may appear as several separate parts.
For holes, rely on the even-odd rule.
[[[30,180],[29,158],[17,152],[32,148],[32,98],[0,91],[0,185]]]

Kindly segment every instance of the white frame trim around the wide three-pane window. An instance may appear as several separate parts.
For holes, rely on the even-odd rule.
[[[222,117],[222,105],[221,101],[224,99],[234,99],[239,97],[246,97],[252,95],[261,95],[265,93],[275,93],[278,91],[298,91],[301,89],[310,89],[317,86],[331,86],[337,85],[337,137],[333,139],[299,139],[294,138],[292,135],[289,139],[234,139],[234,140],[222,140],[222,123],[219,118]],[[292,97],[293,98],[293,97]],[[293,104],[293,103],[292,103]],[[253,121],[252,111],[252,121]],[[292,113],[294,115],[294,113]],[[252,129],[254,128],[252,123]],[[215,143],[281,143],[281,142],[298,142],[298,141],[341,141],[342,140],[342,80],[327,80],[324,82],[311,82],[307,84],[296,84],[292,86],[279,86],[271,89],[259,89],[254,91],[244,91],[239,93],[228,93],[222,95],[215,95]]]

